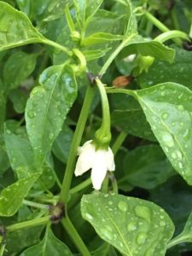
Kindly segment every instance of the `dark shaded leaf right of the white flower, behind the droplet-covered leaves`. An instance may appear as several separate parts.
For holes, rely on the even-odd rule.
[[[122,182],[143,189],[154,189],[176,173],[158,145],[131,150],[125,155],[123,164],[125,176]],[[119,180],[119,183],[122,182]]]

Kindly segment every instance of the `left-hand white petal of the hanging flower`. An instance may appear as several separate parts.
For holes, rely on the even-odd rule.
[[[80,176],[84,172],[87,172],[93,166],[94,158],[96,154],[95,146],[88,143],[81,147],[81,152],[79,154],[79,159],[75,166],[75,176]]]

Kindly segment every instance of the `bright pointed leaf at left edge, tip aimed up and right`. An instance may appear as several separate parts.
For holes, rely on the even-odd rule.
[[[34,173],[11,184],[0,194],[0,216],[12,216],[18,211],[23,199],[37,181],[40,173]]]

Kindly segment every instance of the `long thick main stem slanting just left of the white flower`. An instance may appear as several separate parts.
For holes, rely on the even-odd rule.
[[[73,178],[74,165],[75,165],[75,160],[78,152],[78,147],[84,132],[84,126],[86,124],[86,120],[90,113],[90,106],[92,103],[94,93],[95,93],[94,88],[89,86],[86,91],[84,104],[81,109],[78,124],[74,132],[73,141],[72,141],[72,145],[71,145],[71,149],[70,149],[69,157],[67,161],[67,168],[66,168],[64,179],[63,179],[61,194],[60,194],[60,201],[62,201],[65,204],[65,206],[67,205],[67,198],[68,198],[69,189],[70,189],[72,178]]]

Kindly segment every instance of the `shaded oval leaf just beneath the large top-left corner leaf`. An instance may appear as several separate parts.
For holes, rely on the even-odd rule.
[[[32,73],[37,61],[37,54],[26,54],[18,50],[10,55],[3,68],[4,86],[15,89]]]

